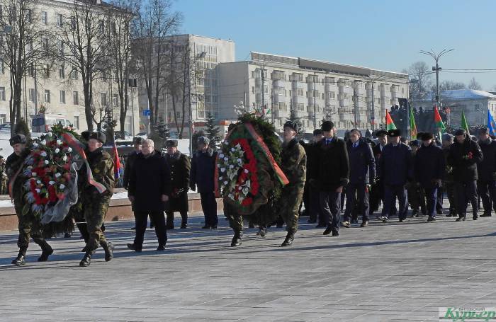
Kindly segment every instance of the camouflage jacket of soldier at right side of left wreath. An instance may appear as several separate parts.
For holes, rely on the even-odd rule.
[[[103,148],[98,148],[93,152],[86,149],[84,153],[88,158],[89,168],[91,168],[91,173],[93,173],[94,180],[107,188],[107,191],[103,192],[103,195],[113,195],[115,177],[113,173],[113,159],[111,155],[106,151],[103,151]],[[83,192],[98,193],[96,188],[88,182],[85,166],[81,168],[79,178],[82,180],[81,183]]]

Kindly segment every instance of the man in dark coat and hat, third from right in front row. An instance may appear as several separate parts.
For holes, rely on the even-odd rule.
[[[436,220],[437,191],[441,189],[441,182],[444,179],[443,150],[436,146],[434,134],[425,132],[420,137],[422,146],[415,154],[415,180],[423,188],[427,200],[427,222]]]

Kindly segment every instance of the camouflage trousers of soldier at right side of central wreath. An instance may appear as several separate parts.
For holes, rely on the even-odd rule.
[[[279,215],[286,222],[286,231],[293,234],[298,230],[298,209],[302,200],[303,187],[286,185],[278,201]]]

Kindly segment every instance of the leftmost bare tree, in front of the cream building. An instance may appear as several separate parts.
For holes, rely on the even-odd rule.
[[[37,4],[36,0],[0,1],[3,9],[0,30],[4,33],[0,36],[0,51],[3,57],[1,63],[6,63],[10,74],[11,133],[15,131],[14,125],[22,118],[23,78],[26,74],[33,76],[38,64],[51,57],[49,29],[33,22],[33,17],[39,16]]]

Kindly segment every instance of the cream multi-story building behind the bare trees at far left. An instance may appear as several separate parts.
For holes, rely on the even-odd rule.
[[[31,23],[40,25],[40,28],[50,30],[49,37],[57,38],[57,30],[60,30],[62,23],[69,19],[74,10],[74,0],[43,0],[34,1]],[[108,4],[95,0],[93,4],[95,10],[108,8]],[[6,8],[0,8],[0,14],[6,14]],[[6,35],[2,35],[5,37]],[[63,46],[55,39],[47,40],[47,43],[54,43]],[[113,119],[119,120],[120,100],[118,97],[118,86],[113,79],[112,71],[104,72],[101,78],[94,81],[94,103],[110,109]],[[9,97],[10,97],[10,74],[7,62],[0,63],[0,124],[9,122]],[[62,114],[78,130],[87,130],[86,116],[84,113],[84,93],[81,82],[81,74],[72,66],[67,66],[63,62],[52,62],[47,59],[46,63],[40,62],[40,66],[33,66],[28,69],[23,80],[22,111],[21,116],[28,120],[30,124],[31,115],[45,110],[45,113]],[[131,91],[132,88],[129,88]],[[125,130],[129,133],[139,127],[139,109],[137,92],[131,102],[125,118]],[[131,108],[131,105],[134,108]],[[133,116],[134,112],[134,116]],[[134,127],[133,127],[134,120]],[[119,129],[119,125],[116,130]]]

